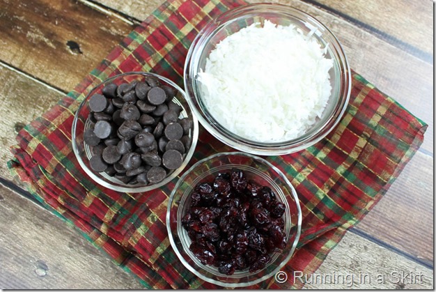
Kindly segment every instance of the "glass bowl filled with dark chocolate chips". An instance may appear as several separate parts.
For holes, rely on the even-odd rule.
[[[72,122],[72,148],[95,182],[147,192],[176,178],[191,159],[198,121],[185,92],[151,72],[115,75],[95,86]]]

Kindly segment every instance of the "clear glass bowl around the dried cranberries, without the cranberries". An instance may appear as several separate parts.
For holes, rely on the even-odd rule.
[[[213,181],[219,172],[236,168],[247,178],[270,187],[278,201],[286,206],[283,220],[286,247],[282,252],[270,254],[271,261],[261,270],[236,270],[233,275],[221,274],[215,266],[204,265],[189,250],[192,240],[181,220],[191,201],[191,192],[198,183]],[[284,174],[263,158],[248,153],[217,153],[196,162],[183,174],[171,192],[166,213],[166,229],[171,246],[183,265],[201,279],[225,287],[249,286],[262,282],[277,273],[293,256],[301,232],[302,211],[297,193]]]

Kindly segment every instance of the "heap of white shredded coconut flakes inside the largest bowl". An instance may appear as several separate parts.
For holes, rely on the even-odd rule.
[[[266,20],[221,40],[198,81],[208,111],[224,128],[279,142],[304,134],[321,116],[332,66],[316,40]]]

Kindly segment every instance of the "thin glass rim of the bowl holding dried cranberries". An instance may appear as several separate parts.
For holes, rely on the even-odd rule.
[[[260,277],[258,279],[254,279],[254,280],[252,280],[250,282],[224,283],[224,282],[219,282],[218,280],[215,280],[215,279],[210,279],[208,277],[205,277],[204,275],[202,275],[194,267],[192,267],[191,265],[189,265],[189,263],[187,263],[185,261],[185,259],[183,258],[182,254],[180,253],[180,251],[179,251],[179,249],[178,249],[178,247],[176,245],[176,241],[174,240],[173,233],[171,231],[171,205],[172,205],[172,202],[174,200],[174,196],[176,195],[176,192],[177,192],[179,186],[185,180],[186,176],[188,176],[196,167],[198,167],[198,165],[203,164],[203,162],[206,162],[206,161],[208,161],[208,160],[210,160],[212,158],[215,158],[215,157],[230,156],[230,155],[247,156],[247,157],[250,157],[250,158],[252,158],[254,160],[257,160],[258,162],[266,164],[267,167],[269,167],[274,172],[276,172],[281,177],[281,179],[284,180],[284,182],[286,183],[286,187],[288,187],[288,189],[290,189],[290,193],[292,194],[295,206],[297,207],[297,223],[296,223],[297,231],[296,231],[295,239],[294,239],[293,245],[292,245],[292,247],[290,249],[290,252],[286,256],[286,258],[283,261],[281,261],[281,263],[279,263],[279,265],[276,268],[274,268],[274,270],[272,270],[272,272],[270,272],[267,275],[264,275],[263,277]],[[177,224],[177,222],[176,222],[176,224]],[[193,164],[192,167],[190,167],[187,171],[185,171],[184,174],[182,174],[182,176],[180,176],[179,180],[177,181],[176,185],[173,187],[173,190],[171,191],[171,194],[170,194],[170,197],[169,197],[169,200],[168,200],[168,204],[167,204],[167,207],[166,207],[166,231],[168,232],[168,237],[169,237],[169,241],[170,241],[171,247],[173,248],[173,251],[178,256],[178,259],[182,262],[183,266],[185,266],[185,268],[187,268],[188,270],[193,272],[194,275],[196,275],[197,277],[203,279],[206,282],[209,282],[209,283],[212,283],[212,284],[217,284],[219,286],[225,286],[225,287],[231,287],[231,288],[244,287],[244,286],[250,286],[250,285],[258,284],[259,282],[263,282],[265,279],[269,279],[270,277],[272,277],[272,275],[277,274],[277,272],[279,272],[279,270],[281,268],[283,268],[283,266],[285,266],[286,263],[288,263],[290,258],[293,256],[293,254],[295,252],[295,249],[297,248],[297,244],[299,242],[299,237],[301,236],[301,231],[302,231],[302,209],[301,209],[301,206],[299,204],[298,194],[297,194],[297,191],[295,190],[295,187],[292,185],[292,183],[290,183],[290,181],[288,180],[286,175],[283,174],[283,172],[280,169],[275,167],[274,164],[268,162],[267,160],[263,159],[262,157],[258,157],[256,155],[252,155],[250,153],[244,153],[244,152],[239,152],[239,151],[221,152],[221,153],[215,153],[213,155],[205,157],[202,160],[198,160],[198,162]]]

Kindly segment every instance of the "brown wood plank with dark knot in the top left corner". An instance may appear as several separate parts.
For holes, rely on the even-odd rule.
[[[64,91],[133,29],[73,0],[1,0],[0,11],[0,60]]]

